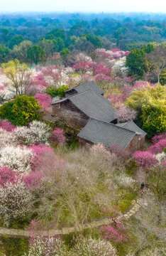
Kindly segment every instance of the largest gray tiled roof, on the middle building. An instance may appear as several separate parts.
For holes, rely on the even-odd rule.
[[[112,122],[116,119],[114,108],[106,102],[102,95],[96,95],[92,90],[77,93],[63,100],[52,102],[52,104],[58,104],[66,100],[70,100],[79,110],[87,114],[88,117],[106,122]]]

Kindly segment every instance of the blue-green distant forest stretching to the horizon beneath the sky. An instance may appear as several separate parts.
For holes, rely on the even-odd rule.
[[[131,51],[165,38],[165,14],[0,14],[0,63],[11,58],[35,63],[35,55],[42,60],[72,50]]]

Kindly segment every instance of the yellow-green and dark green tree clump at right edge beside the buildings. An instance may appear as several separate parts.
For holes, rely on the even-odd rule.
[[[139,112],[143,129],[148,132],[148,137],[166,131],[165,87],[157,85],[157,87],[148,86],[142,90],[134,90],[133,95],[126,100],[126,105]]]

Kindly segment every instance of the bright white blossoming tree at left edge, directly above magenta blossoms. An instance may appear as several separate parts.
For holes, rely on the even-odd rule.
[[[6,166],[13,171],[28,173],[31,171],[33,153],[26,146],[5,146],[0,149],[0,166]]]

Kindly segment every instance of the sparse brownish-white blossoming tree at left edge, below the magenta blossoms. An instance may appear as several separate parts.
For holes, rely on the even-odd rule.
[[[0,216],[9,225],[12,218],[23,218],[30,210],[31,193],[22,181],[0,186]]]

